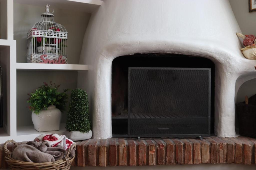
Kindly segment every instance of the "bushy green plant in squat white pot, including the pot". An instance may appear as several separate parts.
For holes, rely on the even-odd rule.
[[[59,92],[60,85],[55,83],[37,88],[27,100],[32,112],[32,122],[38,132],[54,131],[60,129],[61,111],[65,110],[67,102],[67,89]]]

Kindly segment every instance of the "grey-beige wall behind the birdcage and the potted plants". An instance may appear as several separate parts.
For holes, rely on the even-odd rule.
[[[74,9],[54,9],[55,22],[62,24],[68,31],[68,63],[78,64],[82,48],[83,36],[91,14]],[[26,33],[40,21],[45,6],[30,6],[14,3],[14,40],[17,41],[17,62],[26,62]],[[76,71],[17,71],[17,126],[33,125],[31,112],[26,102],[31,91],[43,82],[55,82],[63,88],[77,88]],[[65,113],[62,122],[65,122]]]

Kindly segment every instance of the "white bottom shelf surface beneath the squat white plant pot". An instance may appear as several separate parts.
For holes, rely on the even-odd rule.
[[[30,140],[44,133],[51,133],[51,134],[57,133],[58,135],[63,135],[65,131],[66,131],[65,123],[60,124],[60,130],[48,131],[48,132],[37,132],[37,130],[34,129],[34,126],[20,126],[20,127],[17,127],[17,136],[26,136],[28,137],[27,139]],[[24,138],[24,141],[26,141],[25,138]]]

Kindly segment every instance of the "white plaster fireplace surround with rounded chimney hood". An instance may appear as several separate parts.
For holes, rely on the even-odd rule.
[[[104,0],[84,36],[81,76],[90,101],[94,138],[111,138],[111,66],[134,53],[200,56],[215,64],[215,134],[232,137],[240,85],[256,77],[254,60],[243,57],[241,32],[228,0]],[[82,81],[81,81],[82,80]]]

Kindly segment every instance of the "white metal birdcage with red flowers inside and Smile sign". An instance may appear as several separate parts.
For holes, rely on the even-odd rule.
[[[28,63],[68,63],[68,32],[54,22],[54,15],[46,5],[37,22],[27,33],[27,62]]]

